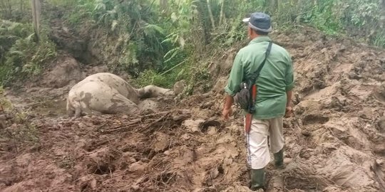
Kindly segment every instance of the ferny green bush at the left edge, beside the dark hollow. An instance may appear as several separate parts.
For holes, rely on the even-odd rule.
[[[56,56],[55,44],[43,30],[41,41],[34,41],[31,24],[1,21],[0,85],[10,85],[31,75],[39,75],[49,60]]]

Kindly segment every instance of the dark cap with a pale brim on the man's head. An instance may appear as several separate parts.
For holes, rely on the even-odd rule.
[[[272,31],[272,23],[270,21],[270,16],[262,12],[256,12],[250,15],[249,18],[244,18],[242,20],[245,23],[249,23],[250,28],[269,33]]]

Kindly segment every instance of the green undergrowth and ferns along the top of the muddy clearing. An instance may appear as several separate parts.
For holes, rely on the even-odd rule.
[[[17,21],[10,13],[29,9],[15,6],[24,1],[7,1],[12,6],[6,7],[13,10],[1,9],[0,14]],[[189,80],[197,73],[194,68],[202,68],[191,60],[211,58],[213,53],[220,54],[212,49],[229,48],[247,39],[247,26],[241,21],[255,11],[270,14],[277,31],[308,25],[330,36],[351,36],[385,47],[383,1],[47,0],[42,9],[51,13],[43,14],[43,21],[60,17],[71,29],[97,36],[92,43],[101,48],[101,62],[113,73],[130,75],[137,85],[171,87],[175,81]],[[92,23],[92,29],[85,23]],[[41,31],[42,41],[36,43],[30,23],[3,21],[0,30],[2,85],[38,75],[56,55],[48,32]]]

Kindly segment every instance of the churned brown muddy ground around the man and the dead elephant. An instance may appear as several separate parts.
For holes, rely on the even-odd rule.
[[[267,191],[385,191],[385,50],[309,28],[274,41],[297,86],[287,167],[268,166]],[[1,191],[249,191],[242,117],[220,117],[235,53],[212,65],[212,91],[135,116],[66,117],[71,82],[9,91],[19,112],[1,116]]]

